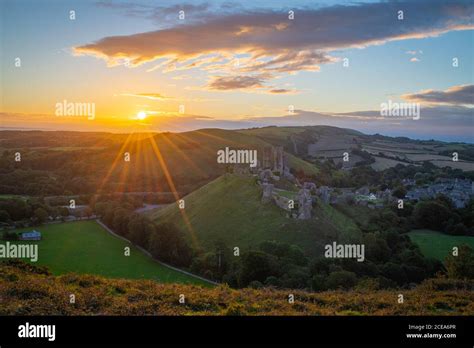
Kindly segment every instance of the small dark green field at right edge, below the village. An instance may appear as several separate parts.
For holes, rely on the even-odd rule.
[[[440,261],[444,261],[455,246],[467,244],[474,249],[474,237],[450,236],[431,230],[413,230],[408,235],[420,247],[423,255]]]

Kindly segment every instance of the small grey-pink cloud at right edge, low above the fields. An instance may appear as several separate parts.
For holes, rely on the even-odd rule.
[[[404,94],[402,98],[433,105],[474,105],[474,85],[453,86],[444,91],[428,89],[419,93]]]

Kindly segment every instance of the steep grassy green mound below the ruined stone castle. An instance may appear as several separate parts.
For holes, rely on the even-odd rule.
[[[211,248],[217,240],[241,251],[256,249],[266,240],[297,244],[308,254],[319,254],[327,241],[358,235],[357,226],[328,205],[315,208],[311,220],[285,217],[273,203],[261,203],[261,189],[253,177],[226,174],[184,198],[184,222],[177,205],[152,211],[155,222],[172,222],[187,233],[198,246]],[[194,236],[194,238],[193,238]]]

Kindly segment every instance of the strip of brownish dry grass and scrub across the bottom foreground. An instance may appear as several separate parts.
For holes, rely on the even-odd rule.
[[[288,294],[295,297],[288,302]],[[404,295],[399,304],[398,294]],[[71,304],[70,294],[75,295]],[[185,303],[179,303],[179,295]],[[212,289],[91,275],[53,276],[0,263],[0,315],[473,315],[474,281],[436,279],[413,290]]]

